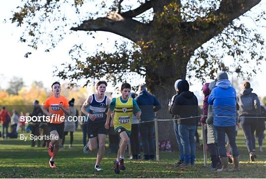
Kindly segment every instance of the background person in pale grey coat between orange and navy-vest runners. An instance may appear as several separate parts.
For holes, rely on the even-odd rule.
[[[64,137],[63,137],[62,145],[60,146],[60,148],[64,148],[66,135],[68,135],[68,132],[70,133],[70,144],[69,144],[68,148],[72,149],[72,147],[73,147],[72,146],[73,141],[74,141],[73,133],[76,131],[76,124],[75,124],[75,121],[73,120],[73,117],[77,116],[77,109],[74,107],[74,102],[75,102],[74,98],[72,98],[70,101],[68,101],[70,115],[69,116],[66,115]]]

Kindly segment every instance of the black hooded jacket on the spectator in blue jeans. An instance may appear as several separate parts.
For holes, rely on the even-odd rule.
[[[186,80],[182,80],[178,84],[179,95],[174,99],[171,113],[178,118],[178,124],[196,125],[197,118],[190,118],[198,116],[198,99],[193,92],[189,91],[189,84]]]

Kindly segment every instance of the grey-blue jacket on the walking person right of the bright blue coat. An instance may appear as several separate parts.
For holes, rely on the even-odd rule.
[[[261,105],[257,94],[252,88],[244,89],[237,95],[236,103],[238,116],[260,116]]]

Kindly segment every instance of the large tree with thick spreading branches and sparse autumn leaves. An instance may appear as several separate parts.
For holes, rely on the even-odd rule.
[[[130,39],[132,43],[117,43],[115,52],[99,50],[87,58],[81,58],[83,49],[77,44],[69,51],[73,62],[64,64],[56,74],[70,79],[72,85],[80,79],[89,83],[101,77],[116,83],[125,81],[125,74],[139,74],[164,106],[157,117],[165,119],[176,79],[214,79],[217,70],[228,70],[221,60],[226,56],[233,57],[232,65],[240,74],[249,77],[256,73],[261,61],[266,60],[264,39],[256,30],[245,27],[239,17],[251,16],[258,26],[265,23],[265,12],[250,11],[254,6],[259,8],[260,1],[24,0],[11,20],[26,28],[21,41],[34,49],[40,43],[55,47],[67,35],[69,25],[72,31],[84,30],[88,35],[107,31]],[[66,13],[66,4],[75,9],[79,18],[75,23]],[[46,28],[49,23],[55,28]],[[243,70],[250,61],[253,65]]]

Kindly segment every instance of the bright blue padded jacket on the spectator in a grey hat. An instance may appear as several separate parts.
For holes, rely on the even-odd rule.
[[[208,103],[213,105],[213,124],[234,126],[236,124],[236,92],[229,80],[219,80],[209,95]],[[224,117],[217,117],[224,116]]]

